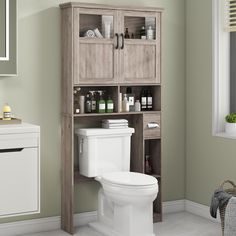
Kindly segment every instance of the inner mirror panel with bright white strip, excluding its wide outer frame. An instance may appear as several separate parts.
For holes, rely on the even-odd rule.
[[[9,60],[9,0],[0,0],[0,61]]]

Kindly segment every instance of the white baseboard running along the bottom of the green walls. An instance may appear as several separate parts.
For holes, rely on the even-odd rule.
[[[209,207],[189,200],[177,200],[163,203],[163,213],[176,213],[187,211],[194,215],[198,215],[214,222],[220,222],[210,216]],[[219,214],[218,214],[219,215]],[[74,215],[75,227],[87,225],[89,222],[97,219],[97,212],[85,212]],[[35,220],[26,220],[12,223],[0,224],[0,236],[16,236],[33,234],[45,231],[59,230],[61,225],[61,217],[49,217]]]

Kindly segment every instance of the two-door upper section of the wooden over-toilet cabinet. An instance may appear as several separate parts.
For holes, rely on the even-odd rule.
[[[74,84],[160,84],[160,12],[74,5],[71,14]],[[142,26],[152,27],[153,39],[140,39]],[[129,39],[124,38],[126,28]],[[91,29],[103,38],[87,37]]]

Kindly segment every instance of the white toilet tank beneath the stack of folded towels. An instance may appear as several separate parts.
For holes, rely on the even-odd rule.
[[[107,172],[130,170],[130,140],[133,128],[77,129],[79,171],[96,177]]]

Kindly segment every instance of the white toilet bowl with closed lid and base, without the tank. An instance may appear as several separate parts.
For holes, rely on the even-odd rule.
[[[90,223],[106,236],[154,236],[153,200],[157,180],[134,172],[113,172],[96,178],[99,191],[98,221]]]

